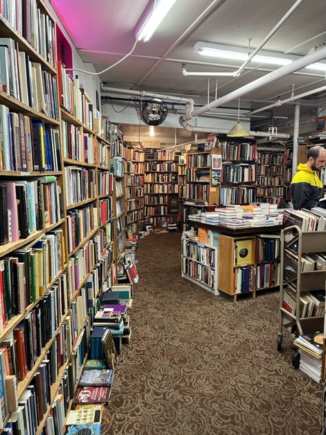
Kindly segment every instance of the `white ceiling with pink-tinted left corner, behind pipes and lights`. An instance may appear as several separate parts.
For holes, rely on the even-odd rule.
[[[104,70],[127,54],[135,42],[134,28],[148,0],[51,0],[69,36],[85,62]],[[294,0],[177,0],[149,42],[139,42],[133,54],[100,78],[108,85],[127,89],[193,96],[196,103],[207,101],[208,78],[182,76],[182,63],[189,72],[232,72],[241,61],[200,56],[193,50],[197,41],[257,47],[274,25],[295,3]],[[209,13],[203,12],[214,4]],[[202,14],[197,24],[195,20]],[[304,0],[290,18],[265,44],[263,50],[304,56],[314,45],[326,41],[326,1]],[[190,30],[189,30],[190,29]],[[89,31],[91,30],[91,31]],[[318,36],[319,35],[319,36]],[[270,65],[248,64],[238,78],[219,77],[218,96],[250,83],[271,71]],[[325,85],[325,74],[301,70],[256,89],[241,98],[241,106],[255,109],[278,98],[288,98]],[[212,100],[215,78],[210,78]],[[302,112],[311,112],[326,102],[298,100]],[[229,103],[228,106],[237,102]],[[292,116],[293,105],[273,110],[275,116]],[[267,116],[268,114],[266,114]]]

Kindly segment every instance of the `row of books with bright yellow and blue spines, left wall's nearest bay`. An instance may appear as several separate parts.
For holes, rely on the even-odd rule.
[[[0,170],[61,171],[58,129],[0,105]]]

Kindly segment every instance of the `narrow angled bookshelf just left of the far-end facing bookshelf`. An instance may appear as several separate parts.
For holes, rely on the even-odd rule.
[[[125,145],[127,236],[142,230],[144,223],[144,151]]]

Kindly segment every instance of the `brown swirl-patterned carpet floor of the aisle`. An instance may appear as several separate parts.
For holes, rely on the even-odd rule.
[[[214,297],[180,277],[180,233],[140,240],[131,344],[103,435],[318,435],[321,387],[276,351],[278,293]]]

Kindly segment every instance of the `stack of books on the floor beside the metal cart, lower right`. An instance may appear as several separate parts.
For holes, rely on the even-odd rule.
[[[294,340],[300,352],[300,370],[320,383],[323,372],[323,339],[321,332],[299,335]]]

